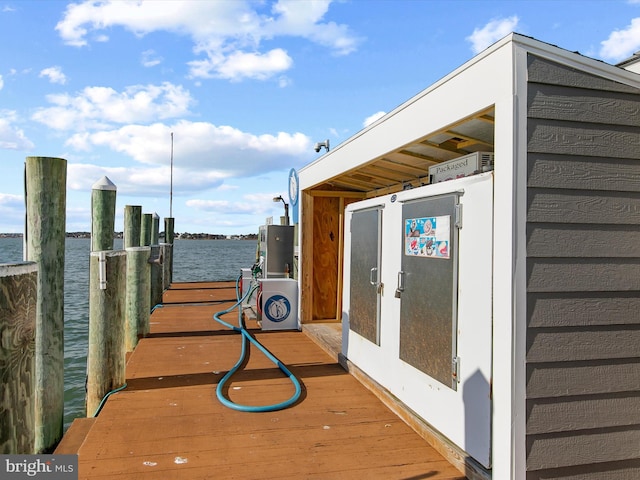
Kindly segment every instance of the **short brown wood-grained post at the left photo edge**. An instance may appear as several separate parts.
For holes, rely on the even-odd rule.
[[[0,454],[35,447],[38,265],[0,265]]]

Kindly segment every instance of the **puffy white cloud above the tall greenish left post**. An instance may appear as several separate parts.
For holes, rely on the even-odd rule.
[[[86,87],[75,96],[47,96],[52,107],[40,108],[32,119],[55,130],[82,131],[111,124],[146,122],[189,113],[191,94],[179,85],[134,85],[118,92],[109,87]]]

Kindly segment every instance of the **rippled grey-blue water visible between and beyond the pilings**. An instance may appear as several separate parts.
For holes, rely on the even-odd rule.
[[[84,417],[89,336],[89,252],[91,240],[67,238],[64,268],[64,424]],[[114,248],[122,248],[115,240]],[[256,242],[249,240],[176,240],[173,281],[235,280],[251,267]],[[22,239],[0,238],[0,263],[22,261]]]

